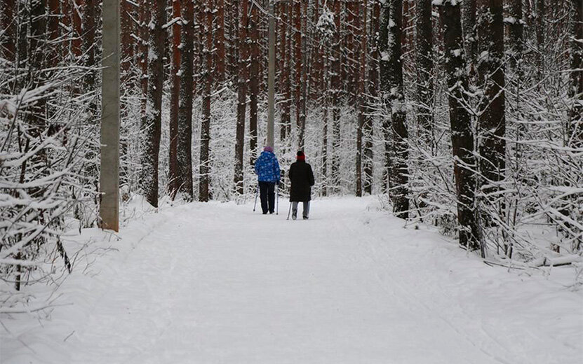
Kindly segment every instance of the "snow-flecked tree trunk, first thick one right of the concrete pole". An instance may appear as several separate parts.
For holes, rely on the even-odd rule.
[[[142,118],[140,181],[147,202],[158,207],[158,155],[160,152],[161,107],[164,81],[163,55],[166,32],[166,0],[150,3],[148,92]]]

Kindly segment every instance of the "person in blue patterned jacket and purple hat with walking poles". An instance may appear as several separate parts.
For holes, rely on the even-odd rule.
[[[273,214],[275,211],[275,185],[281,178],[279,162],[274,154],[274,148],[266,146],[255,161],[255,174],[259,182],[261,209],[263,214]]]

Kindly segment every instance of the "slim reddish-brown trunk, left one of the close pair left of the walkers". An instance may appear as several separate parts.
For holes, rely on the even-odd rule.
[[[126,1],[124,1],[126,3]],[[189,3],[188,0],[185,3]],[[172,17],[173,19],[180,18],[180,1],[172,1]],[[123,20],[123,17],[122,17]],[[123,28],[122,28],[123,31]],[[180,80],[184,78],[185,73],[179,75],[180,72],[180,43],[182,43],[182,52],[185,52],[185,45],[180,34],[180,22],[175,22],[172,25],[172,68],[170,71],[170,148],[168,148],[168,190],[170,190],[170,198],[174,200],[174,196],[180,186],[178,178],[178,108],[180,99]],[[192,45],[192,44],[191,44]],[[190,50],[192,52],[192,49]],[[191,59],[192,63],[192,59]],[[192,65],[190,66],[192,69]],[[192,78],[192,70],[190,77]],[[192,83],[192,80],[191,80]],[[192,91],[191,91],[192,93]],[[192,99],[192,96],[191,96]]]

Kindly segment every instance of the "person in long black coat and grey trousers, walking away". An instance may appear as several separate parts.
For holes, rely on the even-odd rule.
[[[290,167],[290,202],[292,203],[292,218],[297,218],[297,203],[303,202],[304,220],[309,218],[309,202],[311,201],[311,186],[314,186],[314,172],[306,163],[304,152],[297,152],[297,160]]]

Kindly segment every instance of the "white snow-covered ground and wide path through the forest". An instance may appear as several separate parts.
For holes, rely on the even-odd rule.
[[[583,363],[573,267],[490,267],[378,207],[194,203],[84,230],[63,305],[0,315],[0,362]]]

